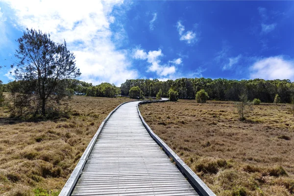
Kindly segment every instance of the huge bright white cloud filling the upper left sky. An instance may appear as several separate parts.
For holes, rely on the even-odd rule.
[[[15,11],[11,18],[21,30],[26,27],[41,29],[49,32],[55,42],[66,40],[68,48],[76,55],[81,80],[120,85],[138,76],[131,68],[127,52],[117,49],[118,44],[112,41],[113,37],[115,40],[123,37],[122,42],[127,39],[122,25],[118,24],[118,32],[110,28],[110,24],[119,23],[112,15],[113,7],[123,5],[123,0],[3,1]]]

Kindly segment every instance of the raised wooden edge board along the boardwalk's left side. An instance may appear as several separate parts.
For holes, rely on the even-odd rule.
[[[137,101],[137,100],[133,100],[133,101]],[[108,116],[104,119],[104,121],[100,124],[96,134],[94,135],[94,137],[92,138],[92,140],[90,141],[88,147],[86,148],[86,150],[84,151],[83,155],[81,156],[79,162],[77,163],[77,165],[75,166],[70,178],[67,180],[67,182],[65,183],[64,187],[62,188],[59,196],[70,196],[72,194],[73,188],[79,178],[79,176],[81,175],[85,164],[89,158],[89,155],[105,125],[105,123],[108,121],[108,119],[110,118],[110,116],[123,104],[128,103],[128,102],[133,102],[133,101],[126,101],[121,103],[119,106],[117,106],[114,110],[112,110]]]

